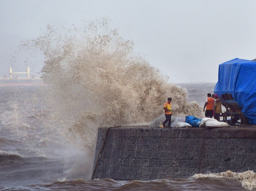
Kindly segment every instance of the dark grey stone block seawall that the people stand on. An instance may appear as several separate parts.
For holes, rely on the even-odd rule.
[[[256,170],[256,128],[99,128],[92,179],[186,179]]]

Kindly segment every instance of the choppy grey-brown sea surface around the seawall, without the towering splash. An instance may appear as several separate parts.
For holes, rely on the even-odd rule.
[[[201,107],[215,87],[215,83],[177,85],[188,90],[189,102]],[[43,86],[0,86],[0,190],[256,190],[253,171],[171,180],[91,180],[92,157],[68,135],[67,127],[75,120],[63,122],[45,94]]]

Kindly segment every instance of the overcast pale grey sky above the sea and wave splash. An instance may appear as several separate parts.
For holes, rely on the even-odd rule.
[[[39,37],[48,24],[69,27],[101,17],[123,30],[136,51],[173,83],[217,82],[219,64],[256,58],[256,0],[0,2],[0,75],[15,65],[11,58],[20,41]],[[20,70],[24,61],[16,64]]]

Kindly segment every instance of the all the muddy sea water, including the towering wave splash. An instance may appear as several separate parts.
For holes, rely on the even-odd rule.
[[[0,190],[256,189],[253,171],[91,180],[98,127],[154,124],[164,119],[168,97],[174,121],[203,118],[215,83],[170,83],[106,19],[70,29],[48,25],[22,46],[27,63],[31,50],[44,55],[44,84],[0,86]]]

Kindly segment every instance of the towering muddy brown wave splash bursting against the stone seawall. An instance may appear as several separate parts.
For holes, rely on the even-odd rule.
[[[32,42],[45,55],[48,102],[63,120],[76,121],[68,136],[86,151],[94,152],[97,127],[150,124],[168,97],[174,116],[202,117],[187,90],[168,83],[105,18],[72,29],[48,25]]]

